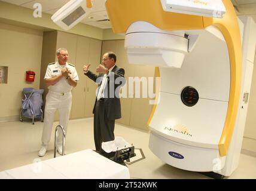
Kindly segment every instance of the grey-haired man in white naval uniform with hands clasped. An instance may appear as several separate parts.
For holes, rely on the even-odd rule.
[[[65,132],[68,128],[69,113],[72,105],[71,90],[77,86],[78,75],[75,66],[66,62],[68,50],[59,48],[57,50],[58,61],[48,64],[44,80],[48,86],[48,94],[45,101],[44,128],[42,130],[42,147],[38,156],[44,156],[51,138],[54,113],[59,110],[59,125]],[[59,129],[60,130],[60,129]],[[57,152],[62,155],[62,132],[58,130]]]

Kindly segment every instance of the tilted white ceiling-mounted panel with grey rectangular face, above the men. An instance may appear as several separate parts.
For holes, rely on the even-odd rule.
[[[51,20],[68,30],[90,14],[91,0],[71,0],[51,16]]]

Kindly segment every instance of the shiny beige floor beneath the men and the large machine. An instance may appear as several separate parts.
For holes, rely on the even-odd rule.
[[[30,122],[0,122],[0,171],[31,164],[38,159],[53,158],[54,128],[46,155],[42,158],[38,157],[42,125],[42,122],[35,122],[35,125]],[[56,125],[57,122],[53,127]],[[133,143],[136,148],[141,148],[144,152],[145,159],[127,165],[131,178],[209,178],[161,162],[148,148],[149,133],[146,131],[116,124],[115,136],[123,137],[128,143]],[[94,148],[93,119],[69,121],[66,154]],[[226,178],[256,178],[256,158],[241,154],[239,167]]]

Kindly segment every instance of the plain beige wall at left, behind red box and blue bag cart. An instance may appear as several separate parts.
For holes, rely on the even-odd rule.
[[[0,121],[17,119],[25,87],[39,88],[42,32],[0,23],[0,66],[8,66],[8,83],[0,84]],[[35,82],[25,81],[33,70]]]

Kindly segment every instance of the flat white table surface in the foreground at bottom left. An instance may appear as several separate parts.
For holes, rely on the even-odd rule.
[[[91,149],[0,172],[0,178],[130,178],[127,167]]]

